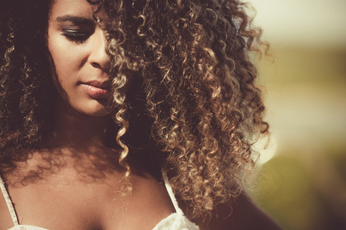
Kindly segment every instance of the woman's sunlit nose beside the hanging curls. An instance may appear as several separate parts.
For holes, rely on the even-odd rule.
[[[109,70],[110,57],[106,52],[107,39],[105,32],[101,28],[95,28],[91,39],[91,53],[89,55],[89,63],[95,67],[102,69],[104,72]]]

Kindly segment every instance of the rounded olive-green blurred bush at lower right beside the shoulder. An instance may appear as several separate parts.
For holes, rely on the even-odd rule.
[[[288,155],[283,154],[264,164],[254,200],[283,229],[346,229],[345,220],[334,214],[304,165]]]

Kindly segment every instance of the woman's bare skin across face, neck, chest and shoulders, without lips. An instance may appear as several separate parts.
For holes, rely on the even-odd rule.
[[[76,17],[83,23],[75,23]],[[55,123],[44,143],[47,148],[28,151],[29,160],[4,176],[21,224],[50,230],[151,230],[175,212],[162,179],[145,169],[157,168],[145,153],[137,159],[142,167],[133,167],[133,192],[125,197],[119,192],[118,152],[104,144],[110,121],[105,98],[92,97],[83,86],[109,80],[105,44],[104,31],[93,22],[93,8],[87,1],[54,1],[47,46],[59,92],[54,102]],[[280,229],[244,195],[237,203],[232,204],[231,216],[227,204],[219,205],[220,218],[205,221],[201,229]],[[179,206],[189,216],[184,201]],[[0,220],[0,230],[13,227],[2,196]]]

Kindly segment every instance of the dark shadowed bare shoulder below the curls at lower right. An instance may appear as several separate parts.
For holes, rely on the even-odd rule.
[[[244,193],[231,204],[219,204],[216,215],[201,230],[282,230],[282,228]]]

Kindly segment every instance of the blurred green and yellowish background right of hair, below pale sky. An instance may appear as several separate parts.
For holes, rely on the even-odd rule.
[[[258,69],[277,147],[252,197],[284,229],[346,229],[346,48],[271,52]]]

